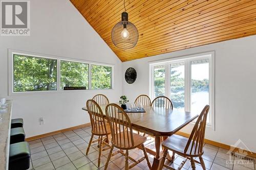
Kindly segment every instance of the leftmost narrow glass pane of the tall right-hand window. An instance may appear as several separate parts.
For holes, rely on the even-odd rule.
[[[164,65],[154,66],[154,98],[164,95],[165,69]]]

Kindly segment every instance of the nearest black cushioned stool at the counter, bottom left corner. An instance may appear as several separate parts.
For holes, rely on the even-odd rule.
[[[30,166],[30,148],[28,142],[10,144],[9,170],[25,170]]]

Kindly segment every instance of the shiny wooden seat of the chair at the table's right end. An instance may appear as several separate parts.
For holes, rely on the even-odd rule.
[[[189,145],[187,152],[184,153],[187,141],[188,141],[187,137],[183,137],[183,136],[180,136],[180,135],[172,135],[172,136],[168,137],[167,139],[165,139],[162,142],[162,146],[164,148],[170,150],[170,151],[174,151],[175,153],[178,153],[178,154],[181,154],[181,155],[185,155],[185,156],[198,157],[199,155],[203,154],[203,152],[200,153],[200,154],[195,153],[195,149],[196,149],[195,145],[196,144],[194,144],[193,150],[192,150],[191,153],[190,153],[190,151],[191,151],[191,144]]]

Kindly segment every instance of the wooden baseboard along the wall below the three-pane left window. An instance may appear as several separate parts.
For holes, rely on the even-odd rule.
[[[37,135],[37,136],[28,137],[28,138],[26,138],[26,141],[36,140],[36,139],[40,139],[40,138],[43,138],[43,137],[56,135],[58,133],[72,131],[72,130],[75,130],[75,129],[80,129],[80,128],[89,127],[89,126],[91,126],[91,123],[78,125],[78,126],[74,126],[74,127],[70,127],[70,128],[66,128],[66,129],[61,129],[61,130],[58,130],[58,131],[53,131],[53,132],[49,132],[49,133],[45,133],[45,134],[41,134],[41,135]]]

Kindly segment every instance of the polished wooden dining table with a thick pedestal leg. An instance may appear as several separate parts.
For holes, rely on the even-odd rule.
[[[106,106],[100,105],[105,118]],[[161,152],[161,137],[166,139],[168,136],[177,133],[186,125],[193,122],[198,117],[198,114],[178,109],[152,106],[143,106],[143,109],[145,112],[126,112],[126,114],[129,116],[134,130],[155,137],[155,151],[149,148],[146,148],[146,151],[154,155],[151,169],[158,170],[163,156]],[[82,110],[88,111],[87,107],[83,107]],[[170,155],[167,157],[168,159],[172,159]]]

